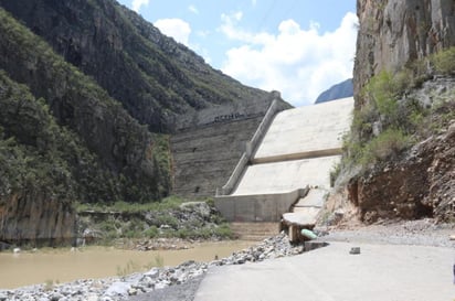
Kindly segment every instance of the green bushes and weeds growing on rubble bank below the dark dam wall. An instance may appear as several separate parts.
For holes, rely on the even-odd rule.
[[[77,204],[80,227],[93,233],[99,243],[118,238],[233,238],[229,225],[215,211],[213,200],[186,203],[170,196],[159,203],[110,205]]]

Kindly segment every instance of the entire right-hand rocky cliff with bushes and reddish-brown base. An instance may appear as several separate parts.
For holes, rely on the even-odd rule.
[[[455,2],[358,0],[357,9],[356,110],[338,178],[353,205],[345,219],[453,221]]]

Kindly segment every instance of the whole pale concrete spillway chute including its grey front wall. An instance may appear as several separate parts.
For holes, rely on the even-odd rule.
[[[233,187],[215,205],[232,222],[279,221],[295,204],[305,204],[306,187],[330,189],[330,170],[341,158],[342,136],[352,120],[353,99],[345,98],[282,111],[231,176]],[[244,160],[245,161],[245,160]],[[324,195],[310,193],[309,195]],[[303,198],[303,200],[300,200]],[[319,197],[320,198],[320,197]],[[298,221],[311,209],[299,206]],[[305,219],[305,218],[304,218]]]

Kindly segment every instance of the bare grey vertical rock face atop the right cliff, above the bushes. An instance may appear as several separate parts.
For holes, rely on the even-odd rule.
[[[382,69],[455,44],[453,0],[358,0],[355,95]]]

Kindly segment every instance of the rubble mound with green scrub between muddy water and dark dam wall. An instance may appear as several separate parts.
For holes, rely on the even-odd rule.
[[[221,240],[231,237],[225,221],[213,204],[187,202],[180,206],[142,212],[84,211],[78,213],[77,245],[121,241],[125,237],[142,238],[139,250],[180,249],[181,244],[168,244],[155,238]],[[119,241],[120,240],[120,241]]]

